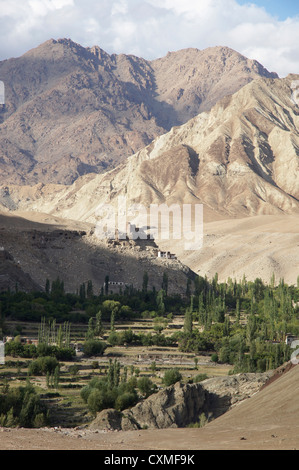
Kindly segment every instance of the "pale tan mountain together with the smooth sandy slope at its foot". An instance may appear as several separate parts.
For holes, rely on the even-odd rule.
[[[298,258],[298,107],[292,82],[254,81],[104,175],[72,186],[2,187],[0,203],[88,221],[100,203],[202,203],[204,246],[185,251],[184,240],[160,240],[194,272],[221,279],[296,283]],[[251,216],[248,218],[248,216]],[[228,220],[225,220],[228,219]],[[243,219],[243,220],[241,220]]]

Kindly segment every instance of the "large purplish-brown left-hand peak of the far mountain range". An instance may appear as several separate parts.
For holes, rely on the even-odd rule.
[[[114,75],[114,62],[100,48],[64,39],[1,62],[2,182],[70,184],[164,132],[139,90]]]

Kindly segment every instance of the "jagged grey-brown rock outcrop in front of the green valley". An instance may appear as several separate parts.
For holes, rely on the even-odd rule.
[[[271,372],[217,377],[198,384],[178,382],[122,413],[103,410],[89,428],[122,431],[183,428],[197,423],[203,413],[209,420],[215,419],[257,393],[270,376]]]

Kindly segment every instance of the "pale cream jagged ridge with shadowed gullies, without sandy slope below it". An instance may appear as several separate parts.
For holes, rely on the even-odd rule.
[[[293,77],[259,79],[174,127],[103,175],[72,186],[9,186],[0,202],[94,222],[99,203],[202,203],[225,217],[299,210],[299,110]],[[27,200],[24,200],[27,199]]]

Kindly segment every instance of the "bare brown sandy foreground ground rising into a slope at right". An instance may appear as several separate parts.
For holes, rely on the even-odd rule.
[[[294,450],[299,449],[299,368],[201,429],[91,432],[1,429],[1,450]]]

